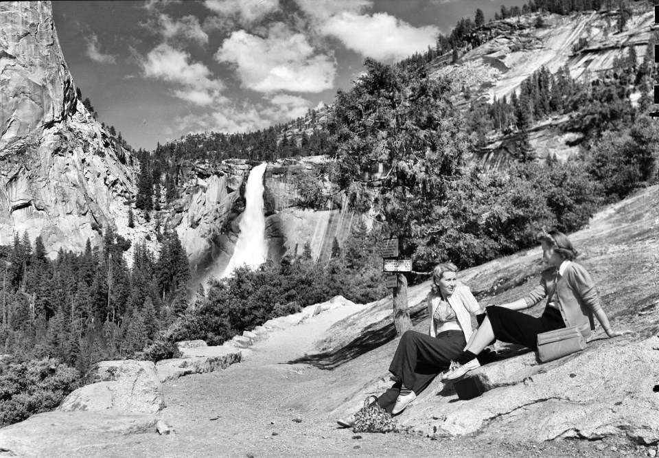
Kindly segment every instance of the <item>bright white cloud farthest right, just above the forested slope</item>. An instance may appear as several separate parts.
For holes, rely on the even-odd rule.
[[[433,45],[439,29],[414,27],[395,16],[342,12],[321,25],[321,33],[338,38],[349,49],[378,60],[401,60]]]

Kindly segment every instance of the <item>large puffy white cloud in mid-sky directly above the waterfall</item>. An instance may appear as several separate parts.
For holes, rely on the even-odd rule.
[[[305,35],[284,23],[273,24],[266,38],[233,32],[215,58],[235,65],[242,85],[262,93],[317,93],[331,89],[336,75],[334,58],[316,54]]]

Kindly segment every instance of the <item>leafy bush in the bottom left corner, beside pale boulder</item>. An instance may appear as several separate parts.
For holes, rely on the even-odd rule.
[[[54,358],[5,356],[0,360],[0,427],[55,409],[78,388],[78,380],[76,369]]]

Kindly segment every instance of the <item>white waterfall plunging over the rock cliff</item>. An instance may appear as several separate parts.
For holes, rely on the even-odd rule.
[[[249,173],[245,186],[245,211],[240,221],[240,234],[235,243],[233,256],[224,269],[222,278],[228,277],[233,269],[247,264],[257,268],[266,262],[266,218],[263,215],[263,174],[268,163],[257,165]]]

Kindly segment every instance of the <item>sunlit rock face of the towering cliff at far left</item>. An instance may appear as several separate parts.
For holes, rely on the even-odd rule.
[[[0,244],[27,231],[50,253],[80,251],[108,227],[133,238],[138,165],[77,100],[51,4],[1,2],[0,24]]]

